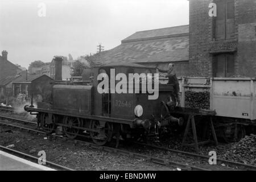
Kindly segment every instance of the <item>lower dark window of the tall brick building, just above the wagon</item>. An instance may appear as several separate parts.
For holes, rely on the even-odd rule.
[[[234,76],[234,55],[222,53],[213,57],[213,76],[231,77]]]

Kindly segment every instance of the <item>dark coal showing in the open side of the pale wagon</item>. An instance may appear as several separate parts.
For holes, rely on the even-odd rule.
[[[210,92],[185,92],[185,107],[210,109]]]

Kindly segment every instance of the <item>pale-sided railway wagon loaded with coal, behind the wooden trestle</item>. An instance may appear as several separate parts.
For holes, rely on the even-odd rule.
[[[191,94],[206,93],[203,109],[215,110],[214,126],[227,142],[239,140],[256,129],[256,79],[243,77],[184,77],[180,82],[181,107],[200,107]],[[190,97],[190,98],[189,98]],[[196,101],[197,100],[197,101]]]

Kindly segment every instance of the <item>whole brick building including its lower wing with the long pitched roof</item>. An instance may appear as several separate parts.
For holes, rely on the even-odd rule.
[[[174,62],[177,76],[256,77],[256,0],[189,0],[189,26],[135,32],[94,57],[160,68]]]

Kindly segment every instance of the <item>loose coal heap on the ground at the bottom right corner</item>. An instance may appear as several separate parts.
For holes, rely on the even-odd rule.
[[[224,154],[227,160],[256,166],[256,135],[245,136]]]

